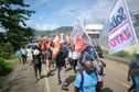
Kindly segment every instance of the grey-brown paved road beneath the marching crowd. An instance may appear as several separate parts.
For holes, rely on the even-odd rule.
[[[129,83],[126,82],[128,66],[107,59],[105,61],[107,68],[103,92],[126,92],[129,87]],[[14,71],[7,78],[8,80],[1,84],[4,88],[0,89],[0,92],[65,92],[61,90],[61,85],[57,85],[54,69],[51,77],[46,78],[45,73],[45,66],[43,65],[43,78],[35,82],[32,66],[18,64]],[[75,74],[70,70],[66,77],[70,89],[67,92],[73,92]]]

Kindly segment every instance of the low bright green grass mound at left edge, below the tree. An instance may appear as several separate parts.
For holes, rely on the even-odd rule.
[[[3,58],[0,58],[0,76],[7,76],[13,67],[13,62],[6,61]]]

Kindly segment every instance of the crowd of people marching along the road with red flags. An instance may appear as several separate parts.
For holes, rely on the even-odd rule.
[[[76,76],[75,92],[100,92],[103,87],[103,76],[105,74],[105,62],[103,51],[97,48],[87,46],[82,53],[77,53],[74,44],[67,42],[53,43],[52,39],[36,41],[34,47],[21,47],[17,51],[19,62],[33,65],[35,79],[42,77],[42,64],[45,64],[46,77],[51,74],[52,64],[57,71],[57,84],[62,84],[62,90],[68,90],[66,82],[67,64]],[[58,44],[58,47],[56,47]],[[56,48],[55,48],[56,47]],[[55,49],[58,49],[55,51]],[[96,51],[97,50],[97,51]],[[53,66],[54,66],[53,65]]]

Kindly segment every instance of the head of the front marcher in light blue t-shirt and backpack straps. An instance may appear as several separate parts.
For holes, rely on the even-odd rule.
[[[95,67],[94,67],[93,61],[92,61],[89,58],[87,58],[87,59],[84,61],[84,68],[85,68],[85,70],[86,70],[87,73],[94,72]]]

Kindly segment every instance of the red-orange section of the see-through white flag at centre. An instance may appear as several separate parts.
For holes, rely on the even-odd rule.
[[[77,35],[74,44],[77,53],[82,53],[88,46],[88,44],[82,41],[81,35]]]

